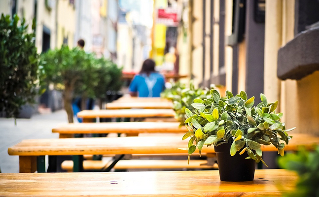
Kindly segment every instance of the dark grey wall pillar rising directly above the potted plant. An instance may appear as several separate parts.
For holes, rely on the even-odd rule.
[[[246,5],[246,92],[257,104],[264,91],[265,23],[254,20],[255,3],[248,0]]]

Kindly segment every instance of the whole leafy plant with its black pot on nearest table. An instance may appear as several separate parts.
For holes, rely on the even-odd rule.
[[[204,145],[214,145],[220,180],[251,181],[255,162],[264,163],[261,145],[273,144],[284,156],[284,143],[292,137],[287,131],[294,128],[286,130],[280,122],[283,113],[275,113],[278,101],[268,103],[260,94],[262,102],[254,106],[254,97],[248,99],[244,91],[236,96],[226,91],[225,99],[216,90],[210,93],[213,98],[194,100],[194,113],[185,109],[189,131],[182,139],[190,137],[188,162],[196,148],[201,153]]]

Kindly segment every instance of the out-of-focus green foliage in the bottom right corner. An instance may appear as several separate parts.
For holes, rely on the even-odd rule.
[[[288,153],[279,158],[279,165],[299,175],[296,190],[286,197],[319,197],[319,146],[313,152],[300,148],[296,154]]]

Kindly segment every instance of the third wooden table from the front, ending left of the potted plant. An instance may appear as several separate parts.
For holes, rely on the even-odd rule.
[[[178,122],[121,122],[121,123],[80,123],[63,124],[52,129],[60,133],[60,138],[72,137],[84,133],[154,133],[154,132],[187,132],[185,126]]]

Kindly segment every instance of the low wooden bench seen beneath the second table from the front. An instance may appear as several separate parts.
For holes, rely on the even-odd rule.
[[[83,161],[84,170],[102,170],[109,165],[108,161]],[[62,162],[61,168],[73,171],[73,161]],[[208,165],[205,160],[192,160],[189,164],[185,160],[121,160],[114,169],[217,169],[217,164]]]

